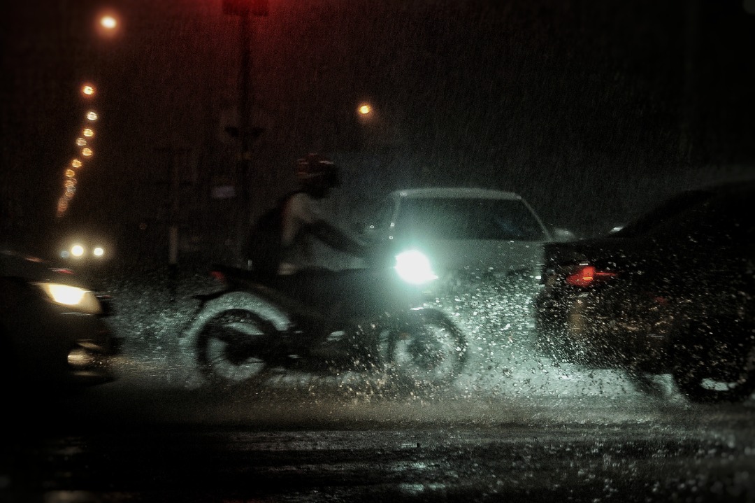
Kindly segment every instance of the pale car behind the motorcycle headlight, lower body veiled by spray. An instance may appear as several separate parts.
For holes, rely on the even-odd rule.
[[[394,190],[363,234],[465,332],[529,346],[522,343],[535,324],[543,246],[556,238],[522,196],[478,187]]]

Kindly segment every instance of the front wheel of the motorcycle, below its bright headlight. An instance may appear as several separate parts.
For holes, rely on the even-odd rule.
[[[467,362],[467,341],[451,319],[433,310],[416,310],[404,326],[381,333],[385,368],[403,384],[438,387],[455,381]]]

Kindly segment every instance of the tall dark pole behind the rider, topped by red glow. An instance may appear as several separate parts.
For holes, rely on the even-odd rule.
[[[236,250],[237,266],[245,266],[242,245],[251,218],[249,172],[251,171],[251,143],[261,130],[251,126],[251,42],[252,16],[267,16],[268,0],[223,0],[223,14],[239,16],[241,20],[241,61],[239,63],[239,159],[236,164]]]

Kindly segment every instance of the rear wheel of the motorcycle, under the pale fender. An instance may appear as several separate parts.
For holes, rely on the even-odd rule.
[[[213,384],[234,385],[255,378],[267,367],[264,344],[276,333],[272,322],[249,310],[221,311],[197,336],[199,371]]]

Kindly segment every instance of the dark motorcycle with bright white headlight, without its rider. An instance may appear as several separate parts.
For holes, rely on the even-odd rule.
[[[378,372],[385,382],[412,388],[451,384],[467,360],[464,334],[394,268],[369,274],[368,305],[344,320],[271,288],[254,272],[215,264],[211,275],[223,286],[194,296],[199,307],[182,337],[191,341],[199,373],[214,385],[247,383],[281,369]]]

